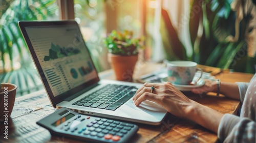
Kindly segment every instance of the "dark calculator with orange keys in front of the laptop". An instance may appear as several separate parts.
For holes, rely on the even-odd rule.
[[[139,127],[108,118],[78,114],[61,108],[36,122],[53,135],[88,142],[128,142]]]

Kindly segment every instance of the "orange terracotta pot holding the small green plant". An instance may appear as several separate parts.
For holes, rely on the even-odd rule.
[[[109,53],[108,61],[115,72],[116,80],[133,81],[133,71],[138,60],[138,55],[135,56],[119,56]]]

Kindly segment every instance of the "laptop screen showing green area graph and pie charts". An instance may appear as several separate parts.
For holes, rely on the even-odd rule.
[[[42,81],[44,85],[47,81],[53,97],[98,78],[77,23],[66,23],[19,23],[38,72],[44,75]]]

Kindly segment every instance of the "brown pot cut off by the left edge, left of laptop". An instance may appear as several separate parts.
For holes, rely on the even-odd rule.
[[[15,102],[17,86],[5,83],[0,91],[0,121],[5,121],[11,116]],[[6,92],[7,91],[7,92]]]

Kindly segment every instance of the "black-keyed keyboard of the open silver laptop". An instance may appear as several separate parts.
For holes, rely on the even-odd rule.
[[[137,89],[135,86],[108,84],[72,105],[116,110],[131,99]]]

